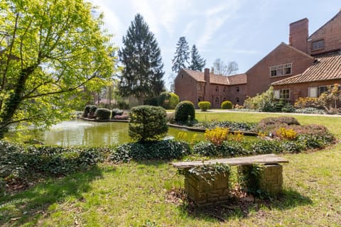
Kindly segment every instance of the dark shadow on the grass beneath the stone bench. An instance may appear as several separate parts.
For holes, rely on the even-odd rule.
[[[204,219],[206,221],[228,221],[235,218],[247,218],[250,212],[256,212],[256,215],[264,216],[261,212],[262,207],[268,209],[291,209],[296,206],[305,206],[312,204],[313,201],[293,190],[285,190],[277,199],[257,199],[253,196],[243,198],[232,197],[227,204],[217,204],[211,206],[198,207],[193,201],[187,201],[179,206],[181,213],[194,219]]]

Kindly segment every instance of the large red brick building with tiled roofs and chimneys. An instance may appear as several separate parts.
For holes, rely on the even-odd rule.
[[[278,99],[293,103],[298,97],[317,97],[327,87],[341,84],[341,11],[312,35],[308,19],[289,25],[289,44],[281,43],[244,74],[223,77],[205,72],[180,70],[175,93],[180,100],[210,101],[219,108],[224,100],[243,104],[274,87]]]

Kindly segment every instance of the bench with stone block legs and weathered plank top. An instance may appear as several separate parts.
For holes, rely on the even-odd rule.
[[[264,169],[261,172],[260,189],[271,195],[276,195],[282,191],[283,167],[280,163],[288,163],[288,160],[274,154],[254,155],[250,157],[234,157],[217,160],[195,161],[195,162],[171,162],[173,167],[183,170],[190,170],[192,167],[201,165],[214,165],[216,163],[226,165],[237,165],[238,172],[244,170],[249,165],[261,164]],[[185,175],[185,192],[198,206],[224,203],[230,198],[229,176],[224,174],[215,175],[215,180],[207,180],[192,175],[188,172]]]

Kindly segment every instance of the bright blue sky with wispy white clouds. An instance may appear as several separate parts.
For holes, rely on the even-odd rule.
[[[237,62],[244,73],[274,50],[288,43],[289,24],[308,18],[309,35],[341,9],[339,0],[91,0],[104,13],[104,28],[122,48],[136,13],[144,17],[158,41],[163,79],[169,87],[176,44],[185,36],[197,46],[210,68],[217,58]]]

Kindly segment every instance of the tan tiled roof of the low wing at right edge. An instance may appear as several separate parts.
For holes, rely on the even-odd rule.
[[[305,72],[271,85],[299,84],[329,79],[341,79],[341,52],[315,56],[316,61]]]

